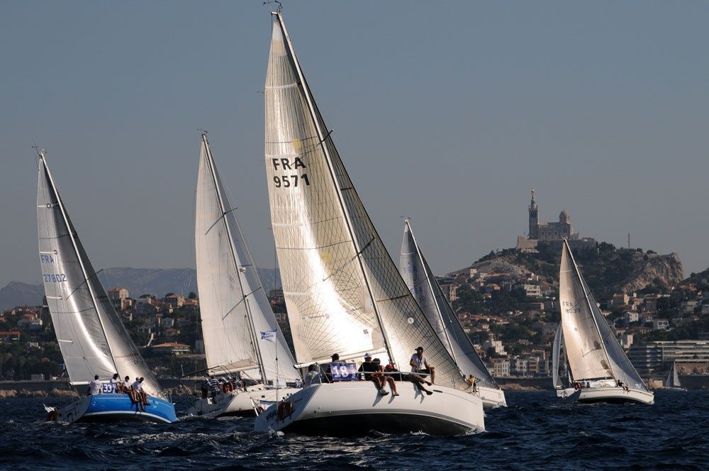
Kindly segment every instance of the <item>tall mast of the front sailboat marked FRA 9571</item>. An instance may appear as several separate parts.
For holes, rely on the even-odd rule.
[[[347,211],[347,208],[345,207],[345,204],[343,203],[344,197],[342,196],[342,189],[340,188],[340,184],[337,182],[337,178],[335,177],[335,171],[333,169],[333,162],[330,157],[330,151],[328,150],[328,146],[325,145],[325,140],[329,138],[330,133],[325,134],[323,132],[323,129],[320,127],[320,118],[318,117],[318,113],[316,112],[316,105],[315,102],[313,101],[313,97],[311,96],[310,93],[310,87],[308,87],[308,82],[306,82],[306,77],[303,74],[303,70],[301,70],[301,65],[298,62],[298,59],[296,57],[296,52],[293,48],[293,44],[291,43],[291,38],[288,35],[288,30],[286,30],[286,25],[283,21],[283,16],[281,16],[280,11],[272,11],[271,15],[275,15],[279,26],[281,27],[281,31],[283,31],[284,38],[286,40],[286,44],[288,45],[288,52],[291,56],[291,60],[293,60],[293,65],[295,66],[296,72],[298,73],[298,78],[300,79],[300,85],[303,89],[303,95],[306,98],[307,104],[308,104],[308,113],[311,115],[311,119],[313,120],[313,123],[316,128],[316,133],[318,133],[318,140],[320,141],[320,148],[323,149],[323,155],[325,155],[325,161],[328,164],[328,170],[330,172],[330,178],[333,180],[333,184],[335,186],[335,189],[337,191],[337,201],[340,204],[340,209],[342,211],[342,214],[345,216],[345,222],[347,223],[347,231],[350,233],[350,239],[352,239],[352,244],[354,245],[354,251],[357,253],[357,262],[359,263],[359,269],[362,272],[362,277],[364,278],[364,284],[367,285],[367,293],[369,294],[369,298],[372,299],[372,306],[374,308],[374,314],[376,316],[376,322],[379,325],[379,329],[381,330],[381,336],[384,339],[384,346],[386,348],[387,354],[389,355],[389,361],[392,363],[396,363],[396,359],[393,357],[393,350],[391,349],[391,343],[389,342],[389,338],[386,334],[386,330],[384,329],[384,323],[381,321],[381,315],[379,314],[379,306],[376,304],[376,299],[374,298],[374,294],[372,293],[372,287],[369,282],[369,277],[367,275],[367,270],[364,270],[364,265],[362,264],[362,248],[359,247],[359,244],[357,243],[357,238],[354,235],[354,231],[352,230],[352,221],[350,220],[350,214]]]

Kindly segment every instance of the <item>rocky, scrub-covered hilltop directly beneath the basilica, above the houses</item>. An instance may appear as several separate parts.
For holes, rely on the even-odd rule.
[[[521,275],[532,272],[554,286],[559,284],[561,249],[558,244],[540,244],[537,253],[521,253],[505,249],[490,253],[471,267],[486,273],[512,273]],[[652,250],[616,248],[609,243],[598,243],[596,248],[574,250],[589,287],[597,297],[614,292],[637,292],[650,285],[660,289],[679,286],[683,279],[679,255],[658,255]],[[470,267],[469,267],[470,268]],[[464,273],[469,268],[457,270],[451,275]]]

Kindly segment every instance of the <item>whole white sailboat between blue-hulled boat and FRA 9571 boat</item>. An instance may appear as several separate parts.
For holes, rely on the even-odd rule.
[[[203,394],[193,416],[253,415],[253,400],[275,401],[301,375],[266,297],[207,140],[201,137],[194,240],[197,287],[210,375],[239,374],[244,387]]]

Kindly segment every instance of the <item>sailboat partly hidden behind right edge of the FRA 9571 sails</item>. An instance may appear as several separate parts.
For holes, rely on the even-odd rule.
[[[483,406],[486,409],[507,406],[505,393],[498,387],[495,379],[478,356],[473,343],[463,330],[463,326],[460,325],[458,316],[443,295],[428,262],[421,253],[408,219],[404,221],[403,226],[399,271],[423,314],[428,318],[448,353],[454,358],[463,376],[472,375],[476,379],[475,389],[480,394]]]

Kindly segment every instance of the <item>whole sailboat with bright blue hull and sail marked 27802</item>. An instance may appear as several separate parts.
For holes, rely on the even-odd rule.
[[[40,266],[57,342],[72,386],[89,384],[94,375],[104,382],[103,394],[50,408],[48,419],[68,423],[121,419],[177,421],[174,405],[160,394],[157,379],[140,357],[96,277],[52,179],[45,151],[38,149],[38,155]],[[145,411],[134,404],[128,394],[115,393],[108,384],[115,373],[131,380],[144,378],[143,390],[148,394]]]

